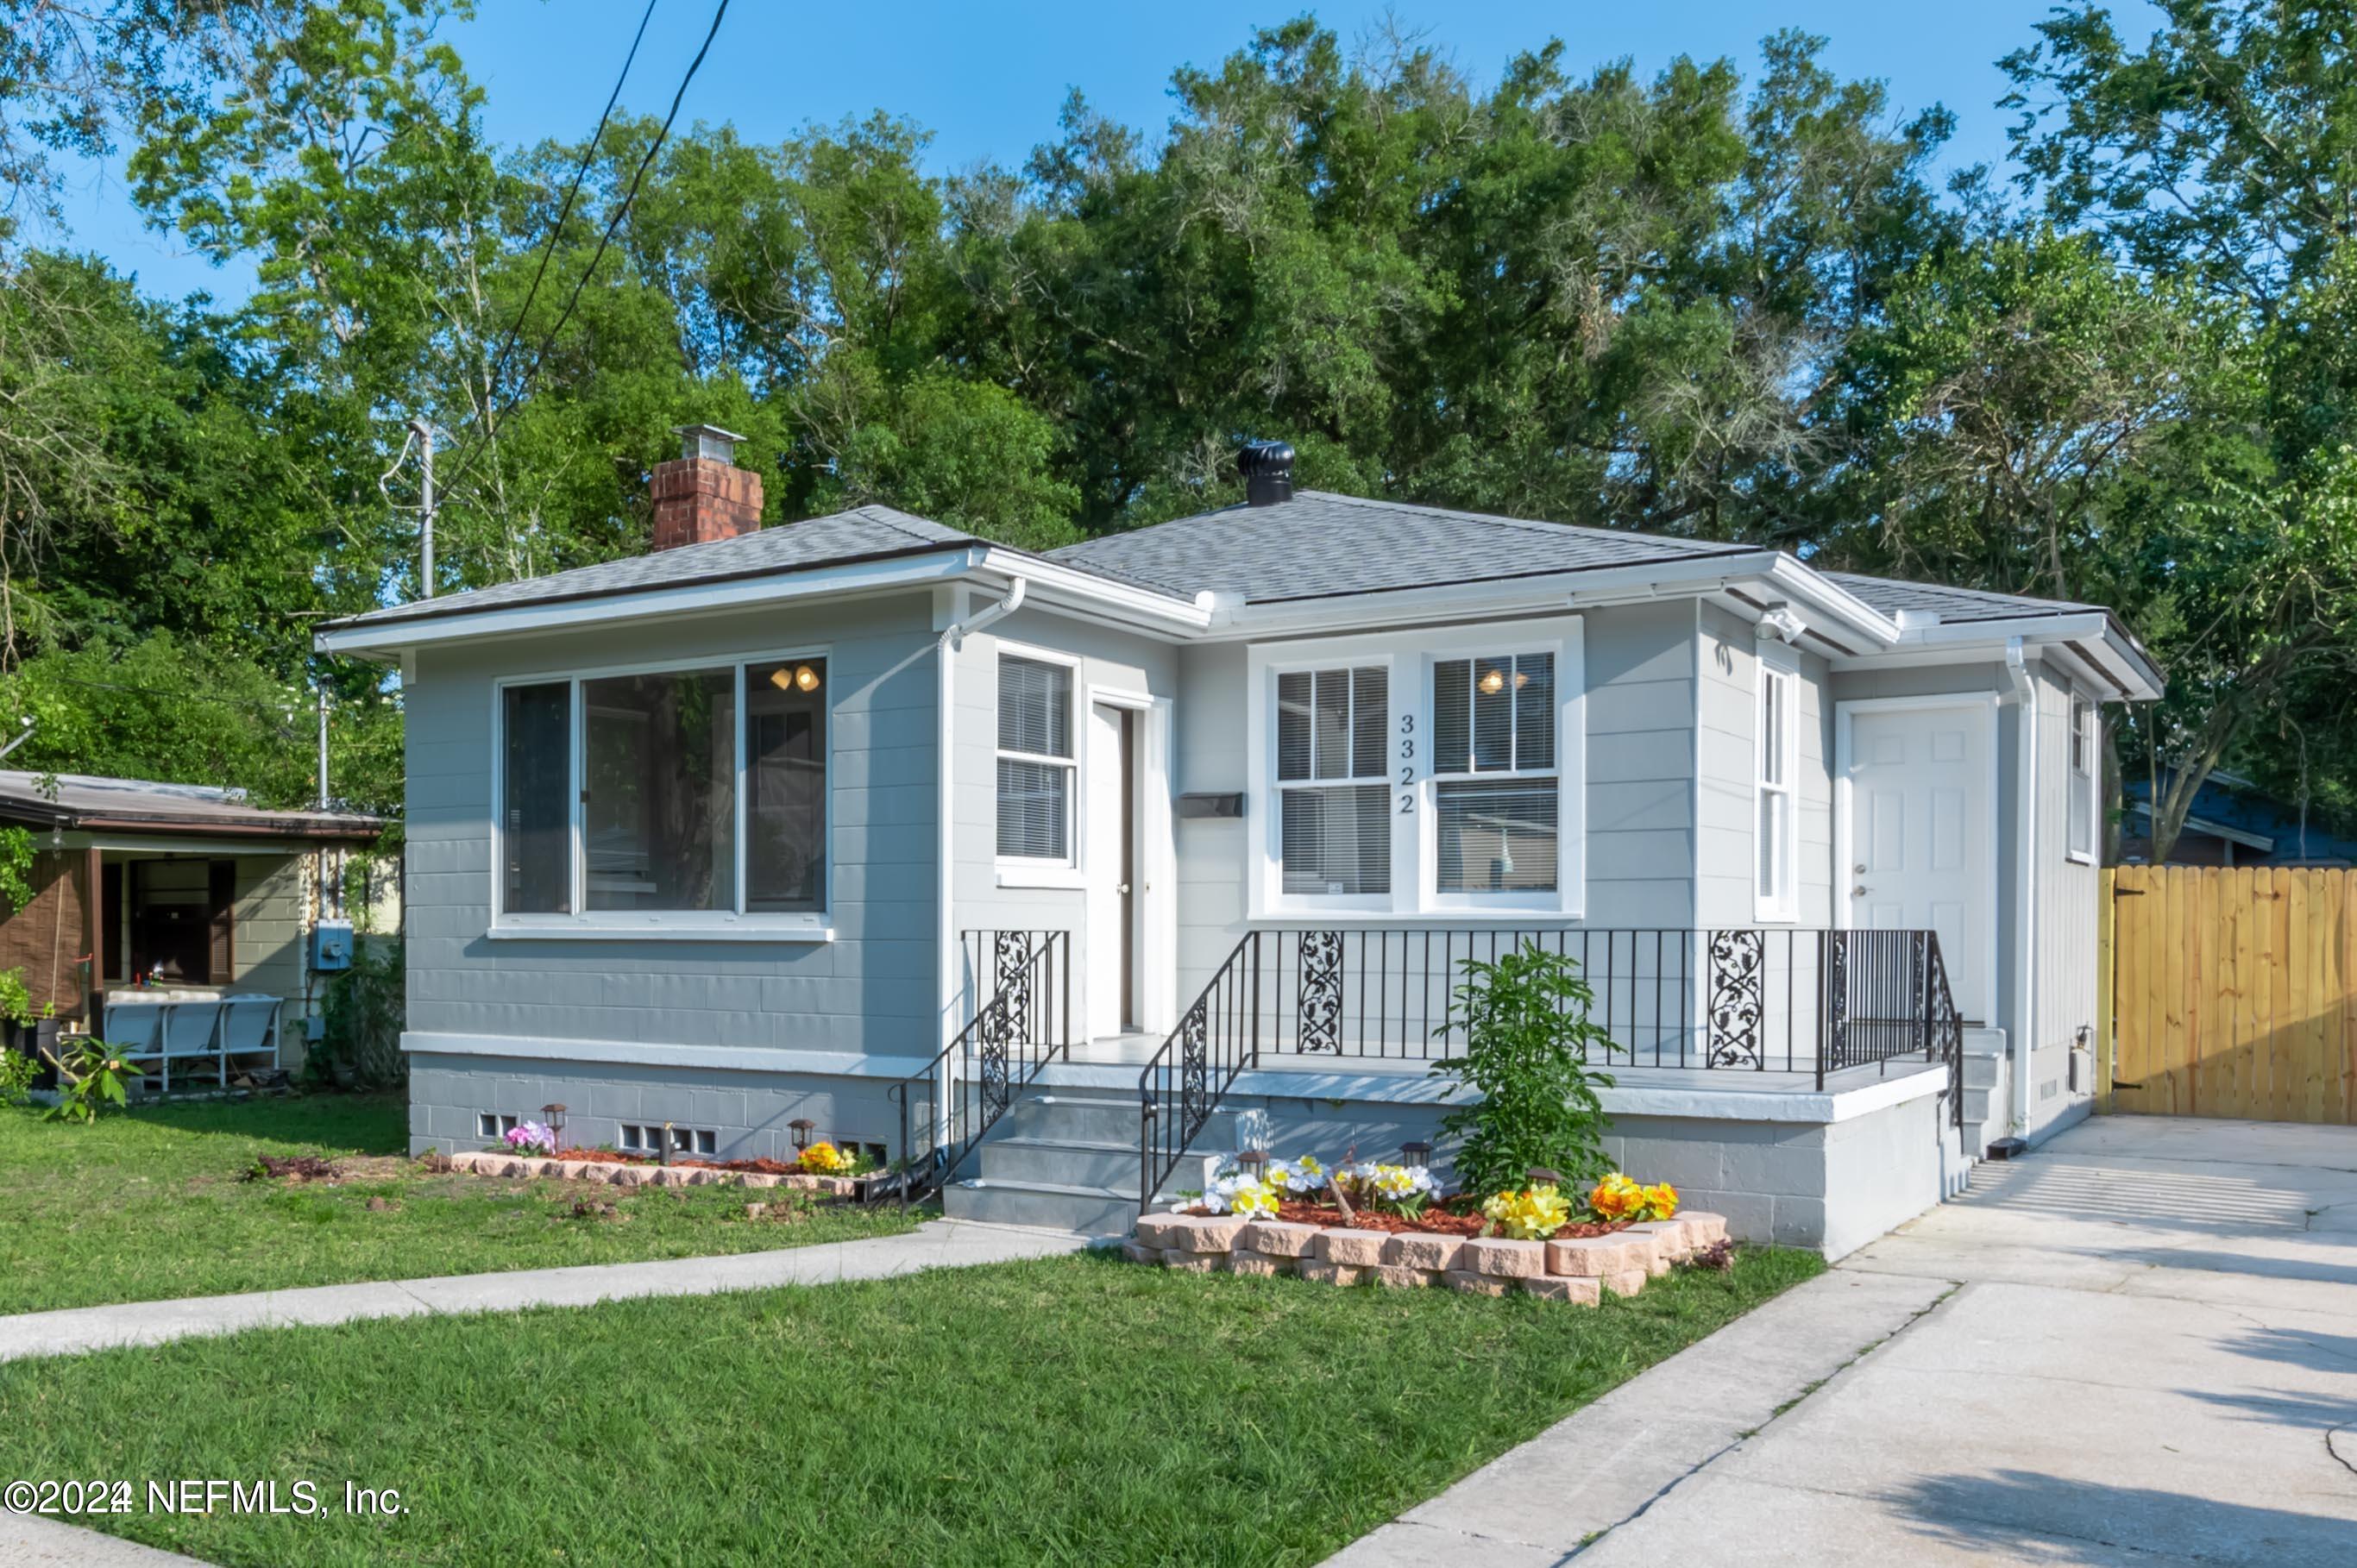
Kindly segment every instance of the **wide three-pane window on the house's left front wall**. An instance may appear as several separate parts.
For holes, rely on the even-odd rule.
[[[495,929],[818,929],[827,660],[500,689]]]

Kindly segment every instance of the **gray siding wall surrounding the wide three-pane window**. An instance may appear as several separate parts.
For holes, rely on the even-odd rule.
[[[931,597],[422,648],[408,714],[412,1035],[910,1054],[933,1019]],[[825,943],[493,941],[493,681],[780,648],[830,658]],[[919,1052],[929,1054],[929,1052]]]

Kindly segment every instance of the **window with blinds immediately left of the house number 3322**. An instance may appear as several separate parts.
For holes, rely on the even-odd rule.
[[[1391,891],[1384,665],[1277,674],[1277,811],[1287,896]]]

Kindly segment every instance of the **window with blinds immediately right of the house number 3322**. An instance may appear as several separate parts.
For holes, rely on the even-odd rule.
[[[1546,894],[1560,877],[1556,655],[1433,663],[1433,837],[1442,894]]]

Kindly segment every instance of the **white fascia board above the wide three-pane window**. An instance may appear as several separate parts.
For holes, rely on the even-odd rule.
[[[893,556],[889,561],[851,561],[811,571],[733,578],[726,582],[681,582],[679,587],[625,589],[596,599],[561,599],[554,604],[514,604],[457,615],[420,615],[387,622],[325,627],[311,646],[321,653],[391,655],[427,644],[471,637],[514,637],[519,632],[570,632],[622,620],[665,620],[738,611],[825,594],[863,594],[891,587],[924,587],[971,578],[985,552],[943,549],[940,554]]]

